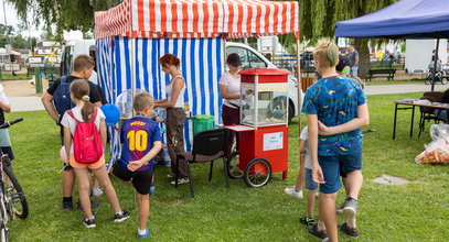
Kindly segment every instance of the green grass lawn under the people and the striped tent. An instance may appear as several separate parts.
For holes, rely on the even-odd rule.
[[[409,138],[409,112],[398,112],[396,141],[392,140],[394,100],[419,98],[423,94],[368,96],[371,124],[365,134],[365,183],[359,204],[359,241],[447,241],[449,238],[449,166],[418,165],[414,157],[429,143],[427,133]],[[417,114],[419,116],[419,114]],[[23,117],[10,129],[17,160],[13,169],[26,194],[30,216],[13,221],[11,241],[130,241],[138,226],[137,202],[131,187],[113,178],[120,204],[131,213],[122,223],[113,222],[105,197],[96,209],[97,228],[82,226],[82,211],[61,210],[62,163],[58,161],[58,129],[44,111],[7,114]],[[303,118],[302,121],[306,119]],[[429,124],[426,123],[426,132]],[[156,194],[151,198],[150,239],[153,241],[319,241],[298,222],[306,215],[306,199],[284,194],[298,172],[298,127],[290,125],[289,177],[274,174],[263,188],[248,188],[231,180],[225,188],[223,165],[216,162],[207,182],[209,166],[193,164],[195,198],[189,185],[174,189],[165,177],[170,168],[158,167]],[[271,161],[276,162],[276,161]],[[411,180],[386,186],[372,179],[388,174]],[[75,199],[77,199],[75,194]],[[339,194],[339,204],[344,193]],[[341,222],[341,220],[340,220]],[[341,241],[351,240],[343,233]]]

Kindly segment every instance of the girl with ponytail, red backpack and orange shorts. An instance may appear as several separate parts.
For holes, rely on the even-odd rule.
[[[121,222],[129,213],[121,210],[116,190],[109,180],[105,167],[104,147],[106,147],[105,114],[89,101],[87,80],[77,79],[71,84],[71,99],[75,107],[67,110],[61,121],[64,127],[64,146],[78,182],[79,201],[86,218],[83,224],[95,228],[95,218],[90,208],[90,169],[98,183],[105,188],[106,196],[114,209],[114,221]]]

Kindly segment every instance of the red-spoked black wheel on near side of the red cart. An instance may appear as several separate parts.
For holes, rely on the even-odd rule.
[[[254,158],[246,165],[244,177],[248,187],[265,186],[271,178],[271,165],[265,158]]]

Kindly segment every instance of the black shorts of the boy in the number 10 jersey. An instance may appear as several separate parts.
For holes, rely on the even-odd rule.
[[[136,188],[137,193],[141,195],[150,194],[151,179],[153,174],[152,168],[140,172],[131,172],[129,169],[122,169],[118,165],[118,162],[116,162],[116,164],[114,164],[113,174],[125,182],[131,180],[132,186]]]

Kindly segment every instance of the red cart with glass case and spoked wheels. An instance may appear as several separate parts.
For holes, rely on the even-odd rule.
[[[240,72],[240,124],[238,151],[227,158],[228,175],[244,178],[249,187],[266,185],[272,173],[288,169],[288,75],[286,69],[256,68]]]

